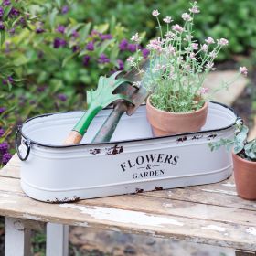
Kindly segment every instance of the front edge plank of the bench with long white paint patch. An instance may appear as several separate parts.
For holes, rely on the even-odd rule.
[[[25,212],[25,206],[29,208],[28,213]],[[1,200],[1,214],[14,218],[151,234],[156,237],[256,250],[255,227],[205,219],[188,219],[83,204],[52,205],[18,195],[9,195],[5,202]]]

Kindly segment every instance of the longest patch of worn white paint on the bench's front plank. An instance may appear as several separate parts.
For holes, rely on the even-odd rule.
[[[81,213],[90,215],[94,219],[114,220],[115,222],[136,224],[140,226],[164,226],[175,225],[183,226],[184,223],[176,219],[169,219],[165,217],[157,217],[144,212],[123,210],[117,208],[103,208],[103,207],[85,207],[74,204],[61,204],[61,208],[76,208]]]

